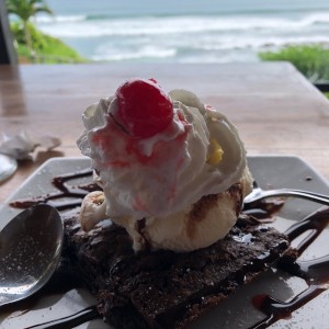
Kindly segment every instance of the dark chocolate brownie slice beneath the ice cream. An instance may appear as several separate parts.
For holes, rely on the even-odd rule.
[[[116,328],[182,328],[250,282],[290,248],[286,236],[241,215],[225,239],[192,252],[135,253],[124,228],[90,232],[66,220],[66,254]]]

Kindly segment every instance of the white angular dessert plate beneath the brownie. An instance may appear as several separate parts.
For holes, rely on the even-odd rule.
[[[0,208],[0,230],[21,209],[12,208],[9,202],[55,192],[52,179],[56,175],[72,173],[90,167],[87,158],[55,158],[45,162],[25,183],[11,195]],[[328,182],[300,158],[294,156],[249,157],[250,170],[258,184],[263,189],[294,188],[329,194]],[[78,179],[76,183],[87,183],[89,179]],[[300,220],[321,207],[307,201],[291,198],[276,215],[273,223],[284,231],[296,220]],[[304,252],[302,259],[318,258],[329,253],[329,228]],[[1,280],[1,279],[0,279]],[[191,328],[249,328],[265,316],[257,310],[251,299],[259,294],[270,294],[281,300],[288,300],[307,287],[297,277],[288,276],[276,270],[269,270],[256,282],[241,287],[237,294],[211,310],[193,324]],[[60,287],[59,287],[60,291]],[[47,321],[63,319],[93,305],[93,297],[84,290],[71,290],[35,298],[20,308],[0,308],[0,328],[27,328]],[[271,328],[325,328],[329,324],[329,291],[300,307],[288,319],[282,319]],[[42,327],[42,328],[47,328]],[[77,328],[110,328],[102,320],[93,320]],[[328,328],[328,327],[327,327]]]

